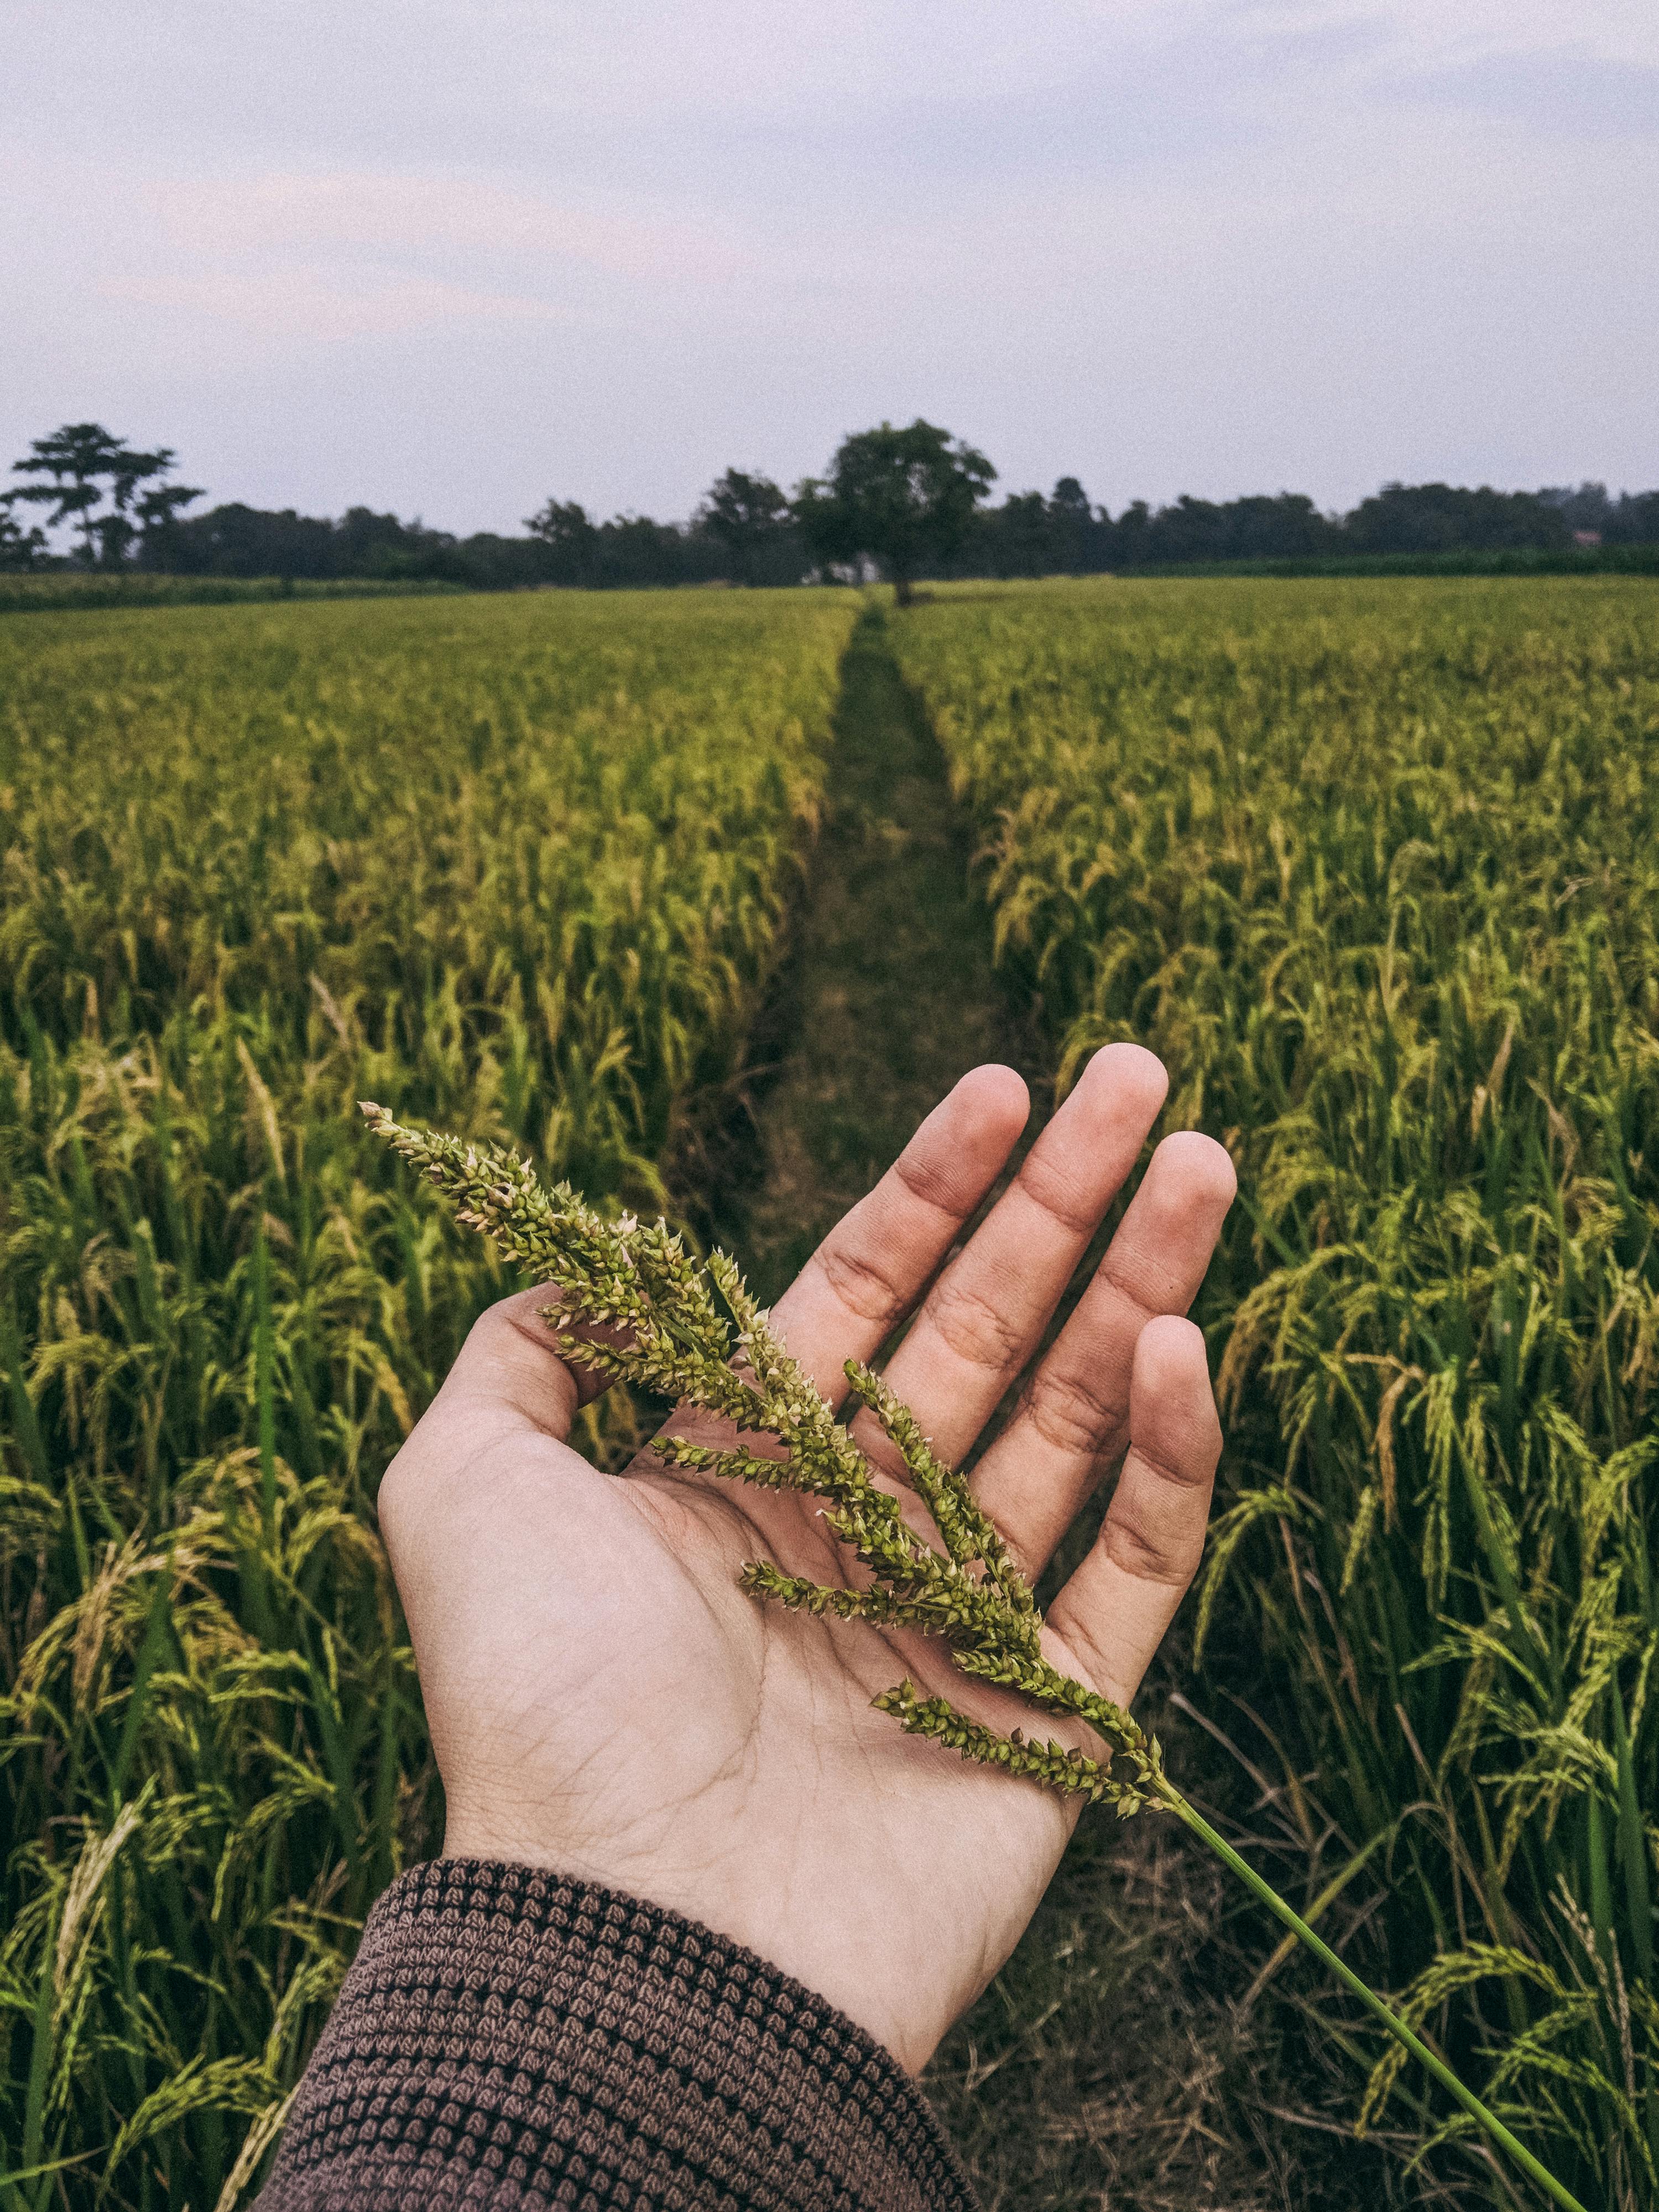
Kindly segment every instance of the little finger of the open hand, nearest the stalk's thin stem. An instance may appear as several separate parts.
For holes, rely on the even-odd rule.
[[[1064,1663],[1119,1705],[1139,1690],[1203,1555],[1221,1422],[1190,1321],[1166,1314],[1141,1329],[1128,1429],[1099,1537],[1048,1608]]]

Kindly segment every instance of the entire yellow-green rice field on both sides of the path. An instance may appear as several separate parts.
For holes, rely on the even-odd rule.
[[[438,1845],[374,1489],[509,1285],[354,1102],[672,1203],[856,613],[0,624],[4,2212],[232,2212]],[[1586,2203],[1652,2203],[1659,593],[969,586],[887,637],[1062,1077],[1139,1037],[1239,1164],[1192,1699],[1274,1874]],[[1349,2117],[1422,2128],[1267,1969]]]

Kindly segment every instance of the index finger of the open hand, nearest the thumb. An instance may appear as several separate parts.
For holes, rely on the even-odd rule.
[[[911,1312],[1026,1126],[1013,1068],[971,1068],[922,1121],[869,1197],[825,1237],[772,1318],[832,1402],[847,1360],[869,1360]]]

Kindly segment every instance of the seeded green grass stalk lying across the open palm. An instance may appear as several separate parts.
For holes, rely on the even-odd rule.
[[[1121,1705],[1051,1666],[1042,1655],[1042,1613],[1031,1584],[1009,1557],[967,1478],[933,1455],[916,1416],[878,1374],[858,1360],[847,1360],[845,1367],[854,1396],[898,1449],[942,1551],[918,1535],[900,1502],[874,1482],[863,1451],[812,1378],[790,1358],[770,1316],[750,1298],[737,1265],[723,1252],[712,1252],[699,1265],[666,1223],[646,1228],[633,1217],[604,1221],[568,1183],[546,1190],[513,1152],[400,1128],[380,1106],[365,1104],[363,1113],[380,1137],[440,1188],[458,1221],[489,1234],[557,1294],[560,1303],[544,1307],[544,1318],[566,1360],[703,1407],[734,1427],[730,1447],[659,1436],[653,1449],[664,1464],[825,1500],[825,1526],[872,1577],[858,1586],[814,1584],[785,1575],[768,1559],[752,1559],[739,1577],[752,1597],[790,1610],[867,1621],[872,1628],[918,1628],[933,1635],[949,1646],[958,1672],[1020,1690],[1042,1712],[1084,1721],[1104,1741],[1106,1756],[1091,1759],[1077,1747],[1037,1741],[1018,1728],[1004,1736],[947,1697],[920,1697],[909,1679],[872,1699],[876,1710],[889,1712],[909,1734],[931,1736],[962,1759],[1091,1803],[1106,1798],[1119,1818],[1141,1807],[1172,1812],[1429,2068],[1491,2143],[1564,2212],[1586,2212],[1451,2066],[1181,1796],[1164,1772],[1157,1739]],[[584,1325],[602,1327],[604,1340],[582,1334]],[[745,1436],[774,1436],[785,1447],[785,1458],[761,1458],[743,1447]]]

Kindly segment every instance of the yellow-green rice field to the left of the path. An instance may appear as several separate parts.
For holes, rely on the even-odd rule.
[[[854,613],[0,626],[7,2208],[228,2212],[438,1843],[372,1500],[504,1285],[354,1102],[661,1203],[743,1057]]]

